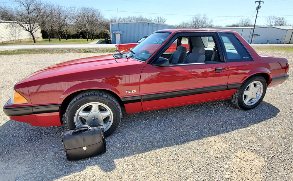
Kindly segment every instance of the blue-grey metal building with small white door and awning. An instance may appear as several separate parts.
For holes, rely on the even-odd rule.
[[[144,36],[160,29],[173,29],[173,25],[165,25],[154,22],[112,22],[110,34],[112,44],[135,43]]]

